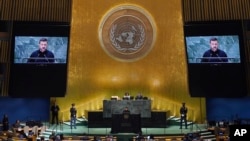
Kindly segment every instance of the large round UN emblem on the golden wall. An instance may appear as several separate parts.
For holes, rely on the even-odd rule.
[[[102,48],[119,61],[136,61],[146,56],[155,36],[155,24],[148,12],[131,5],[111,9],[99,26]]]

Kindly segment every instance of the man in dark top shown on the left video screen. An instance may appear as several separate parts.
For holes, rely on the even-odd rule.
[[[39,40],[39,49],[32,52],[28,59],[28,63],[54,63],[54,53],[52,53],[48,48],[47,38],[41,38]]]

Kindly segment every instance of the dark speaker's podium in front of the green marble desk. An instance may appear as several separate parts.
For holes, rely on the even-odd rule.
[[[141,133],[141,115],[113,114],[111,133]]]

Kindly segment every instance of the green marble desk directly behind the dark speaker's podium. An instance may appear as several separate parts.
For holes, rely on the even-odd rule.
[[[140,114],[142,118],[151,117],[151,100],[103,100],[103,117],[122,114],[125,107],[131,114]]]

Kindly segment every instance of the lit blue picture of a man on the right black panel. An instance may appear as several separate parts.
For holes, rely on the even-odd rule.
[[[186,36],[188,63],[240,63],[238,35]]]

